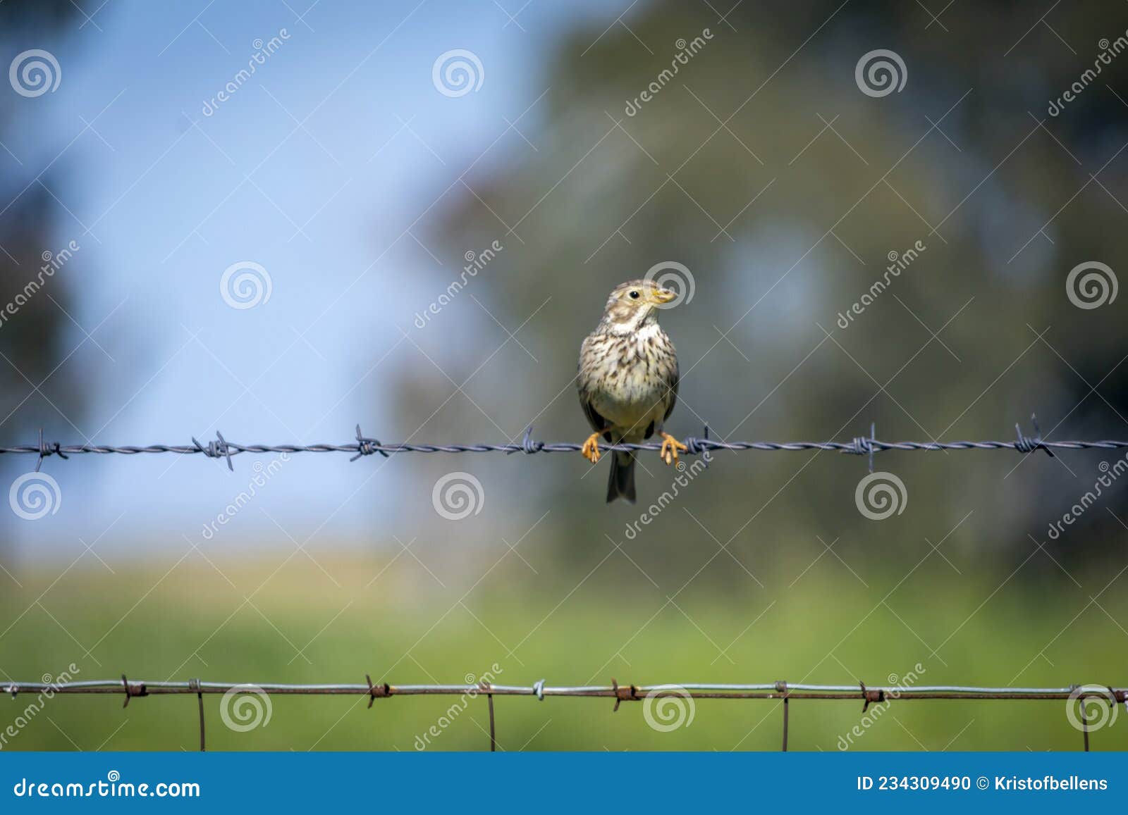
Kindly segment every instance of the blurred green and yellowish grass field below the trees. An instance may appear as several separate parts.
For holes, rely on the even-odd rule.
[[[1102,611],[1077,591],[1031,592],[1029,582],[1005,583],[1013,567],[985,569],[978,579],[954,572],[949,578],[937,568],[925,576],[922,569],[919,579],[914,575],[889,594],[900,574],[867,574],[863,586],[827,558],[790,587],[805,564],[777,564],[778,574],[761,576],[765,590],[743,581],[750,588],[725,593],[703,583],[699,591],[690,584],[675,595],[677,587],[667,593],[642,579],[622,553],[605,560],[593,555],[587,579],[587,572],[553,578],[541,567],[538,592],[530,595],[522,583],[528,567],[513,557],[474,585],[495,557],[467,560],[453,572],[474,577],[457,588],[444,581],[443,588],[409,555],[389,562],[318,553],[318,566],[300,552],[289,559],[232,555],[228,564],[191,551],[183,560],[169,556],[132,572],[115,566],[115,576],[87,556],[53,585],[61,568],[45,566],[42,578],[24,579],[19,592],[0,599],[0,619],[18,618],[0,638],[0,670],[5,681],[56,675],[74,663],[82,680],[125,672],[150,681],[363,682],[370,673],[377,682],[406,684],[462,682],[496,663],[495,682],[502,684],[541,677],[548,684],[605,684],[611,676],[624,684],[879,684],[919,663],[918,684],[1123,684],[1117,672],[1125,635],[1111,619],[1126,618],[1123,595],[1103,595]],[[1025,567],[1028,578],[1052,577],[1054,565],[1042,560]],[[735,568],[713,561],[710,568],[730,566]],[[135,590],[122,592],[122,585]],[[193,697],[134,699],[125,709],[122,700],[55,697],[3,746],[197,748]],[[32,701],[28,694],[0,699],[0,730],[23,720]],[[220,697],[210,696],[208,742],[213,750],[412,751],[458,702],[398,697],[368,709],[365,697],[275,697],[266,726],[237,733],[220,719]],[[614,714],[609,699],[495,703],[497,739],[511,751],[755,751],[778,750],[781,741],[777,701],[698,700],[691,724],[671,733],[651,729],[637,702]],[[838,750],[862,716],[861,700],[793,701],[790,746]],[[428,748],[488,746],[484,698],[450,719]],[[853,748],[1082,744],[1059,701],[900,700],[866,721],[872,724],[852,739]],[[1119,710],[1092,742],[1094,750],[1128,748],[1128,714]]]

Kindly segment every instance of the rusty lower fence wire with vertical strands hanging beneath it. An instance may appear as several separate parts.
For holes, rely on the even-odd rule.
[[[377,699],[399,696],[486,696],[490,709],[490,751],[497,750],[496,719],[494,715],[494,697],[536,697],[544,701],[545,697],[606,697],[615,700],[613,712],[625,701],[645,702],[663,697],[681,699],[770,699],[783,702],[783,752],[787,752],[787,733],[790,727],[791,700],[861,700],[864,714],[870,705],[887,703],[893,700],[909,699],[963,699],[963,700],[1026,700],[1047,701],[1061,700],[1078,706],[1084,751],[1089,752],[1089,715],[1085,710],[1086,700],[1108,702],[1110,708],[1118,703],[1128,709],[1128,689],[1112,685],[1070,685],[1069,688],[976,688],[970,685],[922,685],[901,688],[898,685],[867,686],[865,682],[851,685],[788,684],[773,682],[765,684],[656,684],[656,685],[620,685],[614,677],[610,685],[563,685],[550,686],[545,680],[532,685],[495,685],[488,682],[479,684],[408,684],[393,685],[387,682],[373,684],[369,675],[365,684],[252,684],[230,682],[203,682],[192,679],[187,682],[144,682],[126,679],[122,674],[118,680],[88,680],[82,682],[8,682],[0,684],[0,692],[10,693],[16,699],[20,693],[55,694],[102,694],[124,693],[126,707],[131,699],[152,696],[196,696],[200,708],[200,750],[206,748],[204,736],[204,694],[266,694],[266,696],[361,696],[368,697],[371,708]]]

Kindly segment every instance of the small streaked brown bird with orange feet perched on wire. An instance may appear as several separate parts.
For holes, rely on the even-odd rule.
[[[599,461],[599,437],[609,444],[638,443],[658,433],[659,457],[672,464],[686,445],[663,425],[678,398],[678,355],[669,335],[658,325],[658,310],[677,300],[670,289],[647,280],[617,285],[603,308],[603,318],[580,347],[576,386],[580,406],[594,431],[581,452]],[[615,451],[607,481],[607,503],[635,502],[635,454]]]

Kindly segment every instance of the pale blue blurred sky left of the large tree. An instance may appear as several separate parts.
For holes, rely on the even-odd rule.
[[[7,142],[16,158],[0,160],[23,179],[17,189],[51,166],[45,249],[80,246],[59,274],[76,290],[77,349],[53,375],[98,383],[73,424],[36,400],[47,436],[187,443],[220,429],[243,442],[340,442],[358,422],[378,435],[380,365],[434,299],[439,264],[460,266],[428,245],[425,218],[413,222],[475,159],[488,167],[517,149],[513,132],[499,136],[527,108],[521,126],[535,127],[544,79],[529,67],[562,27],[609,24],[599,7],[532,5],[513,21],[492,2],[111,3],[61,39],[9,38],[9,59],[43,47],[61,67],[55,92],[19,100]],[[204,115],[272,37],[274,53]],[[479,56],[476,92],[450,98],[432,83],[452,48]],[[220,296],[223,271],[240,262],[271,278],[270,300],[253,309]],[[49,522],[15,526],[20,549],[64,553],[72,537],[103,534],[106,546],[182,544],[247,488],[253,460],[236,463],[230,473],[202,458],[49,461],[62,504]],[[347,540],[396,500],[399,479],[369,479],[373,467],[302,457],[262,488],[263,512],[229,529],[276,539],[276,521]]]

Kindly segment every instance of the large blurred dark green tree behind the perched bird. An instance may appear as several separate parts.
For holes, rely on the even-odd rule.
[[[726,438],[841,440],[873,419],[887,440],[1013,438],[1015,420],[1033,433],[1032,410],[1052,438],[1128,433],[1120,303],[1082,310],[1065,292],[1075,265],[1128,254],[1128,57],[1048,113],[1123,35],[1128,9],[1061,7],[1052,28],[1010,2],[938,20],[897,2],[742,3],[724,19],[712,9],[655,2],[562,38],[529,101],[548,90],[521,122],[536,150],[508,133],[495,150],[509,160],[478,162],[473,192],[450,194],[434,231],[451,255],[506,247],[472,284],[475,298],[505,326],[535,315],[520,338],[537,362],[510,346],[518,388],[505,387],[504,365],[476,374],[483,410],[509,433],[535,420],[539,437],[580,438],[567,379],[581,338],[613,285],[676,260],[696,283],[693,302],[663,316],[681,358],[676,434],[708,420]],[[704,44],[687,57],[695,38]],[[878,48],[906,63],[904,92],[861,91],[855,65]],[[911,266],[887,275],[917,241]],[[864,313],[839,325],[883,278]],[[493,351],[452,360],[441,337],[420,335],[455,379]],[[437,387],[446,393],[438,372],[404,391],[411,415],[433,409]],[[467,413],[460,422],[495,434]],[[811,457],[717,457],[710,488],[686,506],[708,513],[720,541],[735,534],[747,558],[766,557],[765,541],[809,546],[827,533],[915,561],[923,538],[943,538],[975,508],[950,544],[1025,551],[1092,486],[1102,458],[1039,455],[1011,476],[1017,459],[988,455],[880,455],[914,505],[911,521],[880,528],[854,508],[864,467],[827,455],[810,469]],[[646,470],[642,504],[671,480],[656,457]],[[556,519],[559,540],[603,549],[605,533],[622,534],[608,519],[637,511],[606,514],[600,478],[580,472],[538,468],[547,485],[515,490],[590,502],[592,513]],[[1110,503],[1122,506],[1122,494]],[[647,530],[646,551],[677,561],[704,533],[670,516]],[[1087,556],[1122,532],[1104,512],[1084,525]]]

